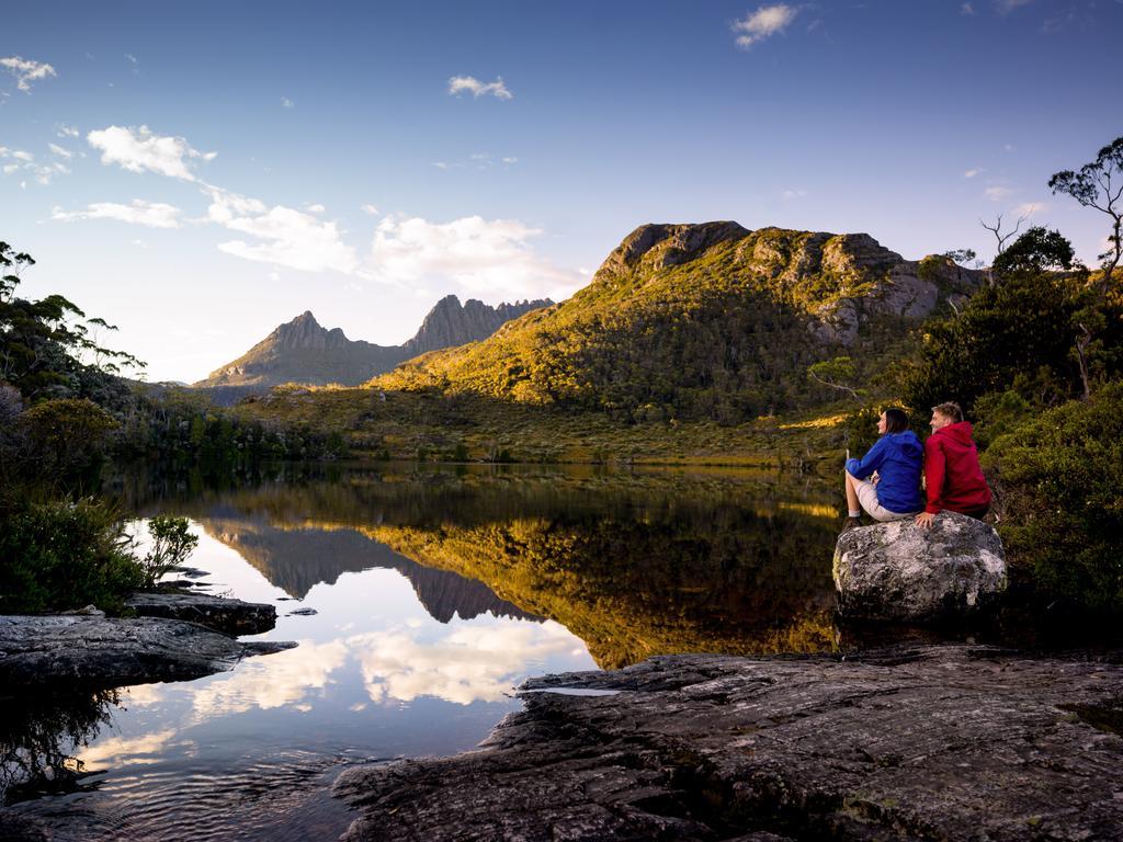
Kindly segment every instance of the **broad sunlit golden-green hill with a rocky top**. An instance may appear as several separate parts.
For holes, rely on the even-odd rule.
[[[865,234],[646,225],[572,299],[372,385],[738,421],[816,390],[821,400],[805,376],[814,361],[850,355],[868,374],[901,353],[911,324],[984,281],[946,257],[905,260]]]

